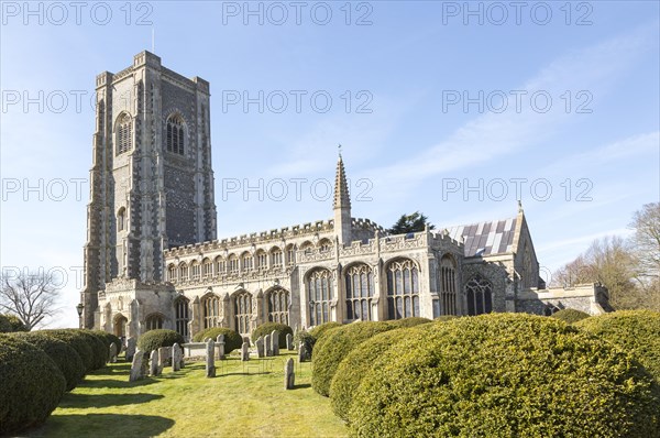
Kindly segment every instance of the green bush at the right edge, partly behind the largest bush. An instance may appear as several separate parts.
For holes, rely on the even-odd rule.
[[[660,311],[619,310],[575,326],[630,352],[660,383]]]

